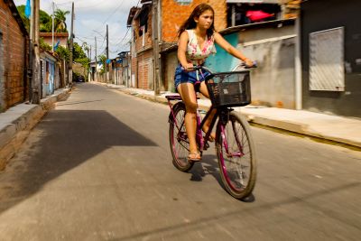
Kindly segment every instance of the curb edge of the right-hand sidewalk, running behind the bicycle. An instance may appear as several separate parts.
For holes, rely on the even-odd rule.
[[[101,83],[101,85],[107,86],[106,83]],[[139,93],[132,91],[131,89],[127,89],[127,88],[118,88],[117,90],[119,90],[125,94],[135,96],[135,97],[141,97],[143,99],[160,102],[160,103],[165,103],[165,104],[168,103],[167,99],[165,99],[164,97],[161,97],[161,96],[154,97],[153,95],[139,94]],[[208,106],[199,105],[199,109],[208,110]],[[307,125],[307,124],[302,124],[302,123],[289,121],[289,120],[275,120],[275,119],[272,119],[272,118],[269,118],[266,116],[262,116],[262,115],[257,116],[254,113],[247,113],[246,109],[242,109],[242,114],[246,117],[246,119],[249,123],[255,123],[257,125],[264,125],[264,126],[279,129],[282,131],[292,132],[295,134],[307,135],[310,137],[323,139],[323,140],[326,140],[326,141],[329,141],[332,143],[347,144],[350,146],[354,146],[356,148],[361,148],[361,142],[351,140],[351,139],[346,139],[346,138],[340,137],[340,136],[322,134],[319,131],[312,129],[311,126]]]

